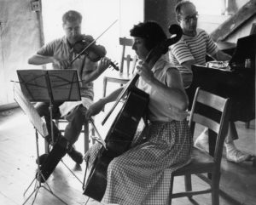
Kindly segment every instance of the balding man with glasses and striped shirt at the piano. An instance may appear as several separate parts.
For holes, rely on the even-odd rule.
[[[177,3],[176,19],[183,29],[181,40],[171,46],[169,57],[183,77],[183,85],[188,88],[193,80],[191,65],[205,65],[206,55],[210,55],[214,60],[230,60],[231,56],[218,49],[217,45],[206,31],[197,28],[198,13],[195,4],[187,0]],[[202,150],[208,150],[208,133],[205,129],[202,134],[195,140],[195,146]],[[230,122],[229,133],[224,142],[226,148],[227,160],[231,162],[243,162],[250,155],[237,150],[233,140],[238,138],[234,122]]]

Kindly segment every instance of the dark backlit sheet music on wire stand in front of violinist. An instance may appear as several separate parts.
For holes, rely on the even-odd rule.
[[[81,100],[76,70],[17,70],[20,88],[34,102]]]

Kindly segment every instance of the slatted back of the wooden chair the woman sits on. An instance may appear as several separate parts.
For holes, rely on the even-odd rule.
[[[195,132],[195,125],[200,124],[207,127],[209,133],[213,132],[215,136],[217,135],[213,157],[218,168],[220,167],[224,139],[228,131],[229,116],[230,99],[209,93],[201,88],[196,89],[189,126],[192,134]],[[212,135],[209,134],[209,136]]]

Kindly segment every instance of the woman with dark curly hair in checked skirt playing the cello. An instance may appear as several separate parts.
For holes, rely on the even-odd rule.
[[[132,48],[139,58],[137,88],[149,94],[148,125],[136,134],[128,151],[114,157],[108,165],[107,188],[102,202],[117,204],[167,204],[170,185],[166,168],[175,170],[190,161],[192,138],[186,120],[189,105],[181,75],[164,54],[153,67],[148,54],[167,37],[154,21],[139,23],[131,29]],[[154,57],[154,56],[152,56]],[[104,105],[116,100],[122,88],[96,101],[86,112],[91,117],[102,111]],[[127,124],[126,126],[129,126]],[[84,159],[95,162],[100,144],[90,147]],[[169,175],[168,175],[169,176]]]

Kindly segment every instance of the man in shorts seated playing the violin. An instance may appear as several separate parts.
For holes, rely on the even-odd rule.
[[[82,15],[79,14],[79,12],[74,10],[67,11],[67,13],[62,16],[62,27],[66,35],[45,44],[38,50],[37,54],[32,55],[28,60],[28,63],[32,65],[52,63],[54,69],[77,70],[80,81],[81,101],[73,103],[53,102],[53,118],[65,116],[68,120],[68,124],[65,128],[64,136],[61,136],[61,132],[53,122],[55,145],[46,159],[44,158],[44,162],[42,162],[43,157],[41,158],[42,160],[40,160],[40,162],[43,163],[40,168],[45,180],[48,179],[57,163],[66,153],[74,162],[79,164],[83,162],[82,154],[75,150],[73,144],[78,140],[84,124],[84,113],[93,102],[93,81],[109,66],[109,60],[107,58],[102,58],[100,62],[97,63],[95,60],[91,60],[90,56],[86,54],[82,54],[79,58],[73,60],[78,55],[74,50],[74,46],[81,38],[89,43],[93,42],[93,37],[81,34],[81,22]],[[106,54],[104,47],[97,46],[97,48],[99,49],[99,53]],[[36,109],[41,117],[45,117],[49,131],[49,136],[46,137],[46,140],[50,143],[52,137],[50,134],[49,103],[40,102],[36,105]],[[40,180],[44,181],[44,179]]]

